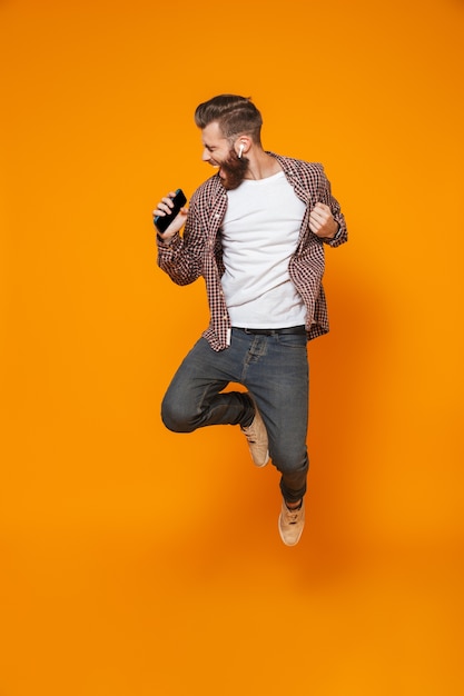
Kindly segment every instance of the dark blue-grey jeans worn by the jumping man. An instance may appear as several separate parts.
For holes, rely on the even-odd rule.
[[[303,334],[272,336],[233,329],[219,352],[200,338],[177,370],[161,406],[169,430],[191,432],[213,425],[247,426],[253,402],[240,391],[223,391],[233,381],[256,400],[269,438],[269,455],[280,471],[288,503],[306,493],[308,455],[308,359]]]

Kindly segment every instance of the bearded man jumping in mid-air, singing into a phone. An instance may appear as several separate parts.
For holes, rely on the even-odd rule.
[[[205,278],[210,324],[162,401],[177,432],[238,425],[251,458],[272,458],[283,495],[278,529],[298,543],[308,454],[306,342],[328,331],[324,245],[347,239],[323,167],[265,151],[261,116],[244,97],[199,105],[203,159],[217,172],[158,233],[158,264],[178,285]],[[170,192],[154,216],[169,215]],[[179,235],[185,225],[184,236]],[[224,391],[238,382],[248,391]]]

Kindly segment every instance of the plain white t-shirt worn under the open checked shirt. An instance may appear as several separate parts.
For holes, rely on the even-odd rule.
[[[273,329],[305,324],[303,300],[288,275],[305,203],[283,171],[246,179],[227,197],[221,284],[231,325]]]

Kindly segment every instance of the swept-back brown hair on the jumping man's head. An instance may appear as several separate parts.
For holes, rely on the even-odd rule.
[[[200,103],[195,111],[195,123],[204,129],[213,121],[219,123],[224,137],[229,140],[246,133],[260,145],[263,118],[246,97],[219,95]]]

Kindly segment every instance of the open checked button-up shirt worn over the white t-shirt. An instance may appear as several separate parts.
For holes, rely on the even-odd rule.
[[[289,260],[288,272],[306,306],[308,339],[328,331],[327,305],[322,285],[324,276],[324,243],[338,247],[347,240],[345,218],[330,193],[324,168],[268,152],[275,157],[295,193],[306,205],[297,248]],[[339,225],[334,239],[320,239],[309,230],[309,212],[316,202],[329,206]],[[218,173],[205,181],[194,193],[184,236],[175,235],[169,245],[158,245],[158,265],[177,285],[188,285],[205,278],[210,324],[203,336],[214,350],[230,344],[230,318],[220,279],[225,272],[220,226],[227,209],[227,191]]]

